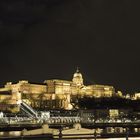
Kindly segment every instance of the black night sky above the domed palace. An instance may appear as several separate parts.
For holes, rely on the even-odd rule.
[[[1,0],[0,85],[71,80],[140,91],[140,8],[134,0]]]

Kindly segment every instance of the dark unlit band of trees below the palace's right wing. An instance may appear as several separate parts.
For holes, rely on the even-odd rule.
[[[86,109],[133,109],[140,110],[140,100],[131,100],[119,97],[112,98],[78,98],[79,108]]]

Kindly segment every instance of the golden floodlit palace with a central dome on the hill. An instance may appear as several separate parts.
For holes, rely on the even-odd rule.
[[[34,108],[41,109],[72,109],[71,100],[81,96],[112,97],[116,96],[116,93],[112,86],[85,86],[78,69],[72,81],[52,79],[45,80],[43,84],[34,84],[24,80],[16,84],[8,82],[4,88],[0,88],[1,104],[20,104],[24,101]]]

